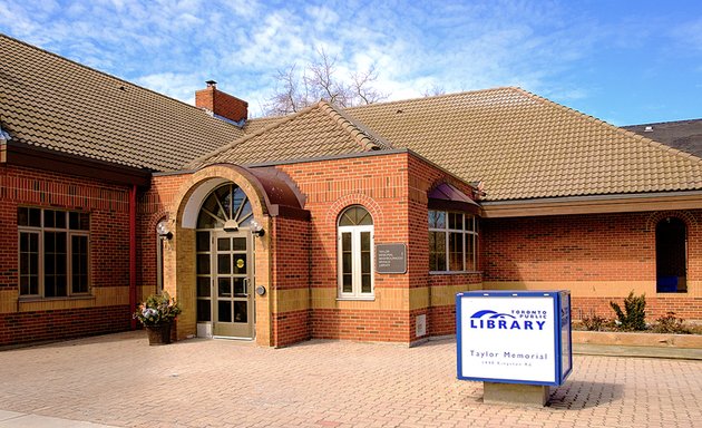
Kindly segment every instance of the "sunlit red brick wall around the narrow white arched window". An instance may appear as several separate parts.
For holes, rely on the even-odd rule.
[[[311,213],[310,286],[337,290],[337,222],[350,205],[373,217],[374,243],[407,242],[407,154],[281,165]],[[302,269],[303,266],[300,266]],[[407,288],[409,275],[376,274],[376,290]],[[313,338],[408,341],[407,311],[312,309]]]

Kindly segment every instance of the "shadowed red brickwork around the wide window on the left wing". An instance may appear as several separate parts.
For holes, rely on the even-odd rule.
[[[129,285],[129,213],[126,186],[25,167],[0,167],[0,290],[18,290],[17,207],[90,213],[90,286]],[[80,319],[80,321],[76,321]],[[109,320],[109,321],[106,321]],[[0,313],[0,344],[128,329],[123,307]]]

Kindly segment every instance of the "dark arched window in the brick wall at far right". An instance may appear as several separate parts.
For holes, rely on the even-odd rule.
[[[688,291],[688,230],[676,217],[663,218],[655,226],[656,291]]]

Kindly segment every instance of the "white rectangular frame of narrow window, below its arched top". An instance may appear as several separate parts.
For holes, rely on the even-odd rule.
[[[337,263],[338,263],[338,288],[339,300],[374,300],[376,299],[376,269],[373,261],[376,260],[374,226],[338,226],[337,227]],[[370,278],[371,291],[361,292],[361,233],[370,232]],[[342,234],[351,233],[351,292],[343,291],[343,249]]]

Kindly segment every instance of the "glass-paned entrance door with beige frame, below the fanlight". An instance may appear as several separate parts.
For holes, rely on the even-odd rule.
[[[254,337],[251,233],[216,232],[212,254],[213,335]]]

